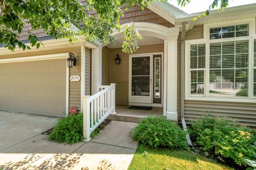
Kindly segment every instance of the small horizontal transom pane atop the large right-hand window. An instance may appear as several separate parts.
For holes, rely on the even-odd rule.
[[[210,39],[249,36],[249,24],[210,28]]]

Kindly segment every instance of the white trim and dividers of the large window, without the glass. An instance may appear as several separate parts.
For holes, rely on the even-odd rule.
[[[241,25],[249,23],[249,36],[246,37],[234,37],[234,38],[223,38],[223,39],[210,39],[210,28],[214,27],[225,27],[232,25]],[[198,101],[223,101],[223,102],[248,102],[256,103],[256,97],[253,97],[253,39],[256,38],[255,34],[255,18],[209,23],[204,25],[204,38],[203,39],[193,39],[185,41],[185,100],[198,100]],[[249,40],[249,79],[248,79],[248,93],[249,96],[245,97],[212,97],[209,96],[209,69],[210,69],[210,43],[217,42],[227,42],[227,41],[242,41]],[[205,72],[204,72],[204,95],[190,95],[190,45],[193,44],[205,44]]]

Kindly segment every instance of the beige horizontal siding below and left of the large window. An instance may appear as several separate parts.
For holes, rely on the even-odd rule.
[[[203,26],[196,26],[186,33],[186,40],[203,38]],[[178,41],[178,102],[180,102],[180,38]],[[204,113],[227,116],[240,124],[256,126],[256,104],[244,102],[217,102],[185,100],[185,120],[187,123],[202,117]],[[178,103],[180,118],[180,103]]]

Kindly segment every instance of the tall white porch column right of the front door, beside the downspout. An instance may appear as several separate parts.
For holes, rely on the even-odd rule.
[[[178,121],[177,114],[177,39],[178,35],[167,37],[167,119]]]

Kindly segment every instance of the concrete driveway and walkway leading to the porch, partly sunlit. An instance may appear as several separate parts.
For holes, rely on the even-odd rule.
[[[138,143],[134,123],[111,122],[90,142],[73,145],[41,133],[58,118],[0,111],[0,169],[127,169]]]

